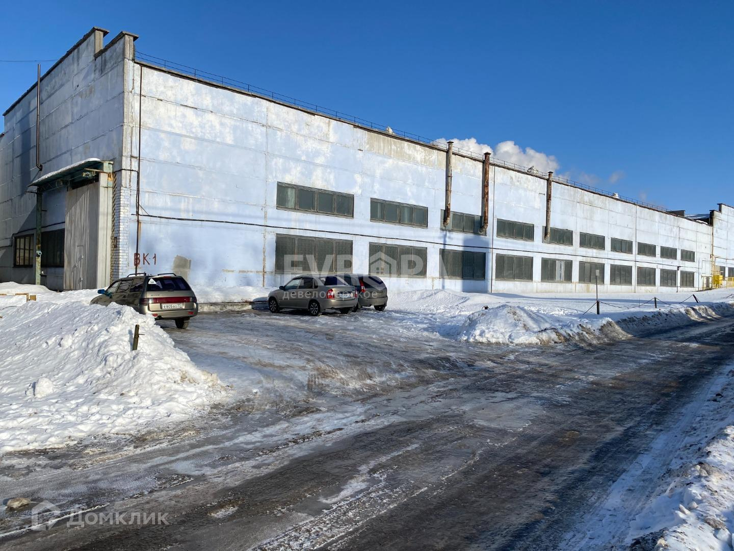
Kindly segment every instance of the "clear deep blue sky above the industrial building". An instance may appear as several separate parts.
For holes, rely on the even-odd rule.
[[[33,6],[4,5],[0,59],[52,60],[92,26],[126,30],[143,53],[393,129],[512,141],[495,156],[537,168],[553,156],[557,174],[620,195],[734,204],[730,1]],[[3,110],[34,75],[0,62]]]

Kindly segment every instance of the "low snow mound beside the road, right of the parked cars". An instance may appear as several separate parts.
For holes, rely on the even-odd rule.
[[[596,338],[610,319],[585,320],[567,313],[546,314],[503,304],[470,314],[459,339],[512,345],[550,345],[581,336]]]

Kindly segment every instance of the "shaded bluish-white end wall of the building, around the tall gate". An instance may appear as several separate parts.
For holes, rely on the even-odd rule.
[[[35,195],[26,192],[31,181],[90,157],[115,160],[119,169],[124,41],[95,56],[102,36],[101,30],[90,31],[42,77],[40,174],[35,167],[35,87],[5,114],[0,138],[0,281],[34,281],[33,267],[13,267],[12,239],[35,231]],[[65,190],[49,192],[43,199],[43,230],[63,228]],[[44,273],[43,284],[62,287],[61,269]]]

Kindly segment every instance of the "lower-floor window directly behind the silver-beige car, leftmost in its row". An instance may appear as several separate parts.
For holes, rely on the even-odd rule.
[[[277,273],[349,273],[352,242],[321,237],[275,236]]]

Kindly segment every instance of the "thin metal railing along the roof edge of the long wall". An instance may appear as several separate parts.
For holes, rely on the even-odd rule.
[[[150,54],[144,54],[141,51],[136,51],[135,58],[137,60],[150,63],[151,65],[157,65],[158,67],[161,67],[166,71],[168,70],[176,71],[178,73],[183,73],[189,76],[193,76],[195,79],[200,79],[205,82],[211,82],[213,84],[222,84],[222,86],[233,87],[238,90],[242,90],[244,92],[254,94],[255,96],[269,98],[275,101],[280,101],[283,104],[288,104],[294,107],[299,107],[300,109],[306,109],[310,112],[320,113],[322,115],[328,115],[329,117],[332,117],[338,120],[344,120],[344,122],[347,122],[347,123],[355,123],[359,126],[365,126],[366,128],[369,128],[369,129],[379,130],[380,132],[385,132],[387,134],[394,134],[396,136],[403,137],[407,140],[413,140],[415,142],[424,143],[426,145],[432,145],[434,147],[443,149],[443,151],[446,151],[446,148],[448,147],[446,145],[446,142],[443,140],[441,141],[431,140],[430,138],[421,136],[419,134],[413,134],[413,132],[404,132],[402,130],[393,129],[393,128],[390,128],[390,126],[386,124],[374,123],[371,120],[366,120],[360,117],[355,117],[354,115],[349,115],[345,112],[337,111],[335,109],[330,109],[329,107],[324,107],[323,105],[313,104],[313,103],[310,103],[309,101],[302,101],[297,98],[293,98],[291,96],[286,96],[284,94],[274,92],[273,90],[268,90],[266,88],[255,86],[254,84],[249,84],[247,82],[242,82],[236,79],[230,79],[228,76],[222,76],[217,73],[210,73],[208,71],[202,71],[200,69],[190,67],[189,65],[183,65],[182,63],[172,62],[170,60],[164,60],[162,57],[156,57]],[[462,148],[454,147],[453,151],[454,153],[458,153],[463,156],[468,156],[471,159],[476,159],[479,161],[483,160],[484,158],[482,154],[478,154],[475,151],[468,151]],[[528,174],[533,174],[534,176],[539,176],[541,178],[548,178],[547,172],[541,172],[540,170],[536,170],[534,168],[528,168],[522,165],[516,165],[514,162],[509,162],[509,161],[504,161],[502,159],[498,159],[494,155],[492,156],[491,162],[493,165],[496,165],[496,166],[509,168],[511,170],[517,170],[518,172],[526,172]],[[647,207],[648,209],[654,209],[654,210],[658,210],[658,211],[669,214],[669,209],[666,209],[666,207],[664,206],[647,203],[645,201],[640,201],[639,199],[635,199],[631,197],[625,197],[625,196],[619,195],[618,193],[610,192],[607,190],[602,190],[598,187],[589,186],[588,184],[583,184],[580,181],[575,181],[575,180],[563,178],[562,176],[555,176],[555,175],[553,176],[553,181],[559,182],[560,184],[567,184],[572,187],[578,187],[581,190],[594,192],[600,195],[606,195],[607,197],[610,197],[610,198],[619,199],[627,203],[644,206],[644,207]]]

